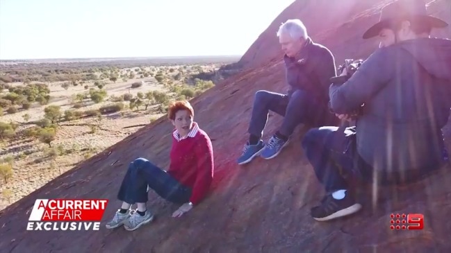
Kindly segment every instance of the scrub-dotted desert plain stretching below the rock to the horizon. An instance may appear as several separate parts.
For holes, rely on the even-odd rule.
[[[229,62],[0,62],[0,210],[210,89],[197,76]]]

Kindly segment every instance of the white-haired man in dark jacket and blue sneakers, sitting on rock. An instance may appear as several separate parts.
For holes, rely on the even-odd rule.
[[[249,141],[238,164],[251,162],[257,155],[264,159],[276,157],[300,123],[309,126],[338,123],[328,110],[329,79],[336,76],[334,55],[311,40],[299,19],[288,19],[281,24],[277,37],[285,53],[286,82],[290,89],[288,94],[256,92],[248,129]],[[265,145],[261,137],[269,111],[284,116],[284,121]]]

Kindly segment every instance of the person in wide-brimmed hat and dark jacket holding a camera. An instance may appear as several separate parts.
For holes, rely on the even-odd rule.
[[[343,85],[329,87],[331,110],[340,118],[361,108],[356,126],[309,130],[302,146],[327,194],[311,209],[315,220],[361,209],[346,177],[374,184],[402,184],[427,176],[447,159],[441,128],[451,107],[451,40],[431,38],[448,24],[427,15],[421,0],[382,8],[363,39],[379,49]],[[343,70],[342,76],[345,76]]]

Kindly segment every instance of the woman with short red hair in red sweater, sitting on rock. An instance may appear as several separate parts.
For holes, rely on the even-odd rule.
[[[124,225],[126,230],[135,230],[153,220],[154,214],[146,207],[149,189],[165,200],[181,204],[172,217],[182,216],[204,199],[213,180],[211,139],[193,121],[194,110],[188,101],[172,103],[168,118],[175,127],[170,168],[163,171],[144,158],[131,162],[117,193],[122,207],[106,228]],[[135,203],[138,209],[133,212],[131,205]]]

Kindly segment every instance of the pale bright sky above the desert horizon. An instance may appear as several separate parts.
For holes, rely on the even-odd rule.
[[[0,59],[243,55],[293,1],[0,0]]]

